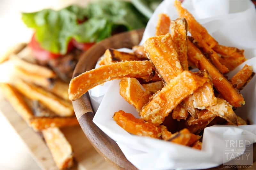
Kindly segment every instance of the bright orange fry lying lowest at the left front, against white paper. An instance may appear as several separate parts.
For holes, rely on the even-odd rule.
[[[129,133],[138,136],[147,136],[160,138],[161,127],[150,122],[144,122],[142,119],[135,118],[130,113],[125,113],[122,110],[116,112],[113,116],[116,123]]]

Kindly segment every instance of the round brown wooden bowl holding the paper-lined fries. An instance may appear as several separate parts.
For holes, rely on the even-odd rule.
[[[132,46],[138,45],[143,32],[144,29],[120,33],[95,44],[79,59],[73,73],[73,78],[87,70],[95,68],[95,64],[106,49],[132,48]],[[114,167],[118,169],[137,169],[125,158],[116,142],[92,122],[94,113],[89,93],[85,93],[78,100],[72,101],[72,103],[78,122],[92,146]]]

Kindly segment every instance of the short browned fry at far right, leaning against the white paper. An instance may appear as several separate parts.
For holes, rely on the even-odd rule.
[[[242,90],[254,75],[252,66],[245,64],[243,69],[231,78],[230,82],[237,90]]]

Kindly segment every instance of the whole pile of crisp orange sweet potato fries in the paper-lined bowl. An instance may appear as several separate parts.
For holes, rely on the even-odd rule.
[[[233,111],[245,104],[240,90],[254,76],[245,65],[233,78],[223,75],[246,59],[243,50],[218,42],[181,6],[181,18],[160,14],[156,36],[133,53],[108,49],[100,67],[73,78],[69,99],[112,79],[141,118],[122,110],[113,119],[127,132],[201,149],[198,134],[214,124],[245,125]],[[171,33],[169,33],[171,27]],[[187,32],[192,36],[188,37]],[[189,71],[198,68],[198,72]]]

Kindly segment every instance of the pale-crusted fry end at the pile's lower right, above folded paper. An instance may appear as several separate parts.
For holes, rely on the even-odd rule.
[[[213,114],[227,120],[234,125],[237,125],[237,116],[232,109],[232,106],[224,99],[217,98],[217,104],[206,107]]]

